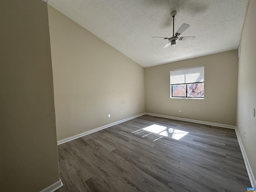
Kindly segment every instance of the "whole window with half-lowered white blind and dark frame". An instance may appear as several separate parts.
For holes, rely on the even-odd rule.
[[[171,98],[204,98],[204,66],[171,70]]]

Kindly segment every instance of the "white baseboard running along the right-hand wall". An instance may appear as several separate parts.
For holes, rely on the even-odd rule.
[[[249,161],[248,161],[248,158],[247,158],[246,152],[244,150],[244,146],[242,144],[242,140],[240,138],[237,128],[235,128],[235,131],[236,131],[236,137],[237,137],[237,140],[238,140],[238,143],[239,143],[239,146],[240,146],[243,158],[244,158],[244,164],[245,164],[245,167],[246,167],[246,170],[247,170],[247,173],[248,173],[251,185],[252,185],[251,187],[256,187],[256,181],[255,181],[254,175],[252,173],[252,169],[249,164]]]

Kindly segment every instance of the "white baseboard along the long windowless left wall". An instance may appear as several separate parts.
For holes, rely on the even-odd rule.
[[[122,123],[122,122],[125,122],[125,121],[128,121],[128,120],[131,120],[131,119],[140,117],[140,116],[142,116],[142,115],[144,115],[144,114],[145,114],[145,113],[141,113],[141,114],[138,114],[138,115],[136,115],[136,116],[132,116],[132,117],[129,117],[129,118],[126,118],[126,119],[123,119],[123,120],[120,120],[120,121],[117,121],[117,122],[108,124],[108,125],[104,125],[104,126],[102,126],[102,127],[95,128],[95,129],[90,130],[90,131],[86,131],[86,132],[77,134],[77,135],[75,135],[75,136],[72,136],[72,137],[69,137],[69,138],[66,138],[66,139],[59,140],[59,141],[57,142],[57,144],[60,145],[60,144],[66,143],[66,142],[68,142],[68,141],[72,141],[72,140],[74,140],[74,139],[80,138],[80,137],[82,137],[82,136],[86,136],[86,135],[91,134],[91,133],[94,133],[94,132],[96,132],[96,131],[99,131],[99,130],[102,130],[102,129],[106,129],[106,128],[108,128],[108,127],[117,125],[117,124],[119,124],[119,123]]]

